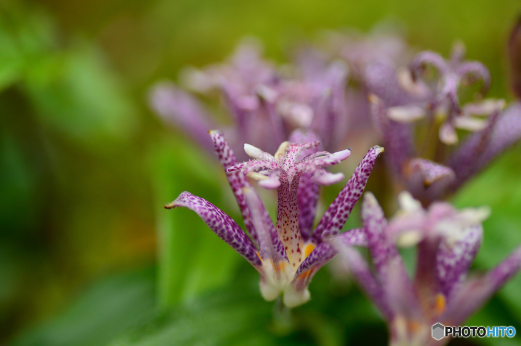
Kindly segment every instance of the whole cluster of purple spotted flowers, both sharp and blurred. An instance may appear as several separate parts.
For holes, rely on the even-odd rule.
[[[517,27],[510,40],[517,97],[520,37]],[[160,118],[217,155],[245,230],[188,192],[165,208],[199,214],[259,272],[262,296],[271,301],[282,295],[289,307],[309,300],[309,281],[340,253],[386,318],[391,343],[429,344],[433,323],[463,323],[521,266],[518,247],[487,274],[466,279],[489,211],[456,210],[444,201],[521,138],[521,102],[485,98],[489,71],[465,60],[461,43],[444,59],[433,52],[413,55],[392,34],[331,34],[329,42],[331,49],[301,49],[292,65],[282,67],[247,43],[224,63],[186,70],[185,86],[203,95],[217,91],[231,125],[219,124],[173,83],[154,87],[151,105]],[[462,102],[461,92],[474,84],[475,99]],[[350,156],[346,142],[354,139],[386,148],[389,175],[405,189],[400,209],[388,221],[366,193],[363,227],[341,233],[383,152],[373,146],[314,228],[319,186],[344,178],[326,168]],[[277,190],[275,224],[253,185]],[[414,278],[405,271],[400,246],[417,247]],[[368,248],[372,265],[356,247]]]

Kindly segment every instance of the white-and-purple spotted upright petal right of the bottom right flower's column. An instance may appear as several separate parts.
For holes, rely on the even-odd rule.
[[[463,231],[457,239],[449,237],[441,241],[436,255],[436,270],[440,291],[445,297],[450,298],[455,285],[461,284],[465,279],[482,238],[483,228],[475,225]]]

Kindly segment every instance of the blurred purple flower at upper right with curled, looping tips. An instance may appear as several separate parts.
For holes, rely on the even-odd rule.
[[[454,193],[521,138],[518,101],[505,109],[503,100],[492,99],[460,105],[460,86],[482,79],[484,93],[490,79],[481,63],[462,59],[461,46],[449,61],[432,52],[420,53],[410,64],[414,78],[410,74],[407,83],[389,64],[374,63],[364,75],[371,117],[388,148],[388,163],[424,206]],[[439,71],[436,87],[418,78],[426,65]],[[455,127],[473,132],[456,147]]]

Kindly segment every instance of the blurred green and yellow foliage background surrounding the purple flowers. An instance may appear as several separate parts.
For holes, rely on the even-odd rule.
[[[222,60],[245,35],[283,62],[321,30],[391,20],[421,49],[446,55],[462,40],[490,68],[490,94],[508,97],[504,47],[519,12],[517,0],[0,0],[0,343],[336,345],[370,334],[384,344],[384,324],[349,281],[320,271],[312,301],[285,319],[194,213],[162,208],[189,190],[240,219],[216,160],[160,126],[146,92]],[[477,271],[521,242],[520,158],[518,145],[454,199],[492,207]],[[368,189],[385,184],[375,175]],[[355,210],[346,227],[358,224]],[[156,246],[155,270],[137,271]],[[518,275],[469,324],[520,326],[520,286]]]

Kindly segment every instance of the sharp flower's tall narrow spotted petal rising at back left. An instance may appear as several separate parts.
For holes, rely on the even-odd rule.
[[[244,195],[242,192],[244,188],[250,188],[251,185],[247,181],[242,171],[227,171],[228,168],[237,164],[237,159],[235,159],[233,150],[231,150],[230,146],[226,142],[222,132],[213,130],[210,131],[209,134],[212,138],[212,142],[214,143],[215,154],[225,169],[226,177],[228,178],[228,182],[230,183],[233,194],[235,195],[237,204],[239,204],[239,210],[241,211],[242,219],[244,220],[246,232],[250,235],[254,244],[258,245],[257,233],[253,227],[250,210],[246,205],[246,201],[244,200]]]

